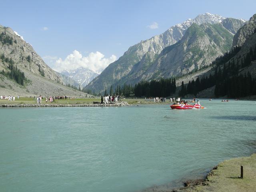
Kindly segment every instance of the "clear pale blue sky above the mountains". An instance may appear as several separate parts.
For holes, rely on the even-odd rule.
[[[205,12],[246,20],[256,13],[255,0],[1,0],[1,7],[0,24],[23,36],[51,67],[78,53],[94,53],[87,61],[93,62],[97,52],[107,65],[141,40]]]

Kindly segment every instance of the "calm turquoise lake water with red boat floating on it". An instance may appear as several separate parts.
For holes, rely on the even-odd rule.
[[[256,152],[255,101],[200,104],[0,108],[0,191],[171,188]]]

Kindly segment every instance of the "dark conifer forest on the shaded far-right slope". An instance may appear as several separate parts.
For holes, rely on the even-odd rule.
[[[227,95],[228,97],[238,98],[255,95],[255,78],[252,79],[250,72],[240,75],[238,73],[240,69],[249,66],[252,61],[256,60],[256,46],[254,51],[250,48],[250,51],[244,57],[238,56],[236,61],[234,58],[230,60],[240,49],[240,47],[234,47],[230,52],[216,58],[213,62],[215,65],[214,75],[210,74],[200,79],[196,78],[196,81],[192,79],[187,86],[182,82],[180,96],[186,94],[196,96],[198,92],[214,85],[216,85],[214,89],[216,97]],[[228,62],[228,60],[230,61]],[[228,62],[227,66],[226,62]],[[221,66],[223,67],[221,68]]]

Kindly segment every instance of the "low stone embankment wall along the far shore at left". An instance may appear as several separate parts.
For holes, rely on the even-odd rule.
[[[129,106],[128,102],[114,104],[0,104],[0,107],[120,107]]]

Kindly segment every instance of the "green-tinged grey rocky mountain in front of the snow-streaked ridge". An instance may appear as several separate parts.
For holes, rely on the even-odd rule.
[[[230,50],[232,32],[242,24],[241,20],[230,18],[218,24],[204,23],[198,26],[194,23],[179,42],[162,50],[148,70],[143,71],[139,62],[136,64],[138,67],[131,70],[124,82],[134,84],[141,80],[181,76],[209,66],[217,56]],[[143,74],[136,76],[140,72]]]

